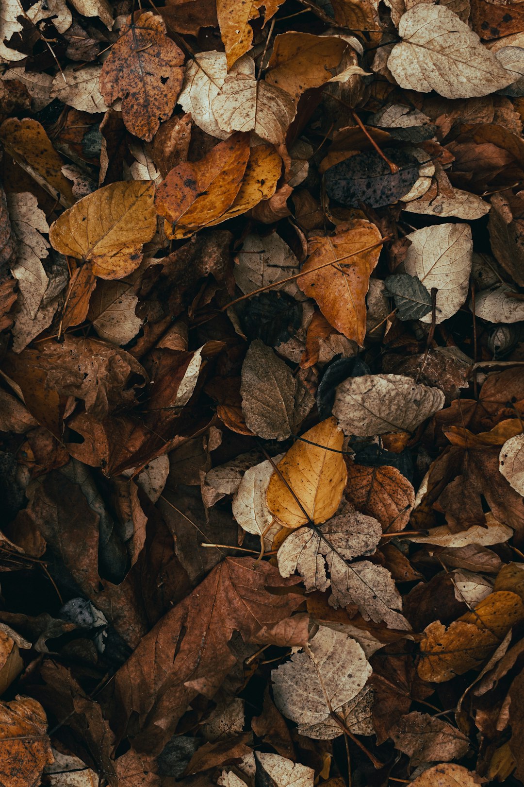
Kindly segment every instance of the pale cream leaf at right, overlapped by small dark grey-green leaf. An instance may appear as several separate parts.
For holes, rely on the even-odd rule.
[[[418,6],[417,6],[418,7]],[[411,232],[404,259],[405,272],[416,276],[427,290],[438,290],[435,322],[448,320],[467,298],[473,254],[468,224],[436,224]],[[420,318],[431,323],[431,315]]]

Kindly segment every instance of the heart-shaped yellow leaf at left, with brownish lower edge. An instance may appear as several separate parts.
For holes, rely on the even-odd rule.
[[[66,210],[51,226],[53,249],[93,263],[101,279],[123,279],[142,259],[156,232],[150,180],[110,183]]]

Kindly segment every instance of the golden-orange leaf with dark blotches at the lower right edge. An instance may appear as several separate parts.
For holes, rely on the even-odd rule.
[[[447,629],[438,621],[430,623],[420,642],[420,678],[442,683],[478,669],[511,627],[522,620],[522,600],[516,593],[500,590],[490,593]]]

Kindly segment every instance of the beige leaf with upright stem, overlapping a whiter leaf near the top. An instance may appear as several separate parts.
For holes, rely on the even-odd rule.
[[[293,98],[280,87],[255,79],[255,62],[251,74],[238,73],[225,78],[222,88],[211,102],[211,113],[222,131],[255,131],[266,142],[279,145],[295,117]]]

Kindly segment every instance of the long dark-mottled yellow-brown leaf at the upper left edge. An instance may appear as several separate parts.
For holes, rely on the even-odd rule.
[[[57,198],[66,207],[75,201],[71,183],[62,175],[64,161],[53,148],[51,140],[38,120],[10,117],[0,126],[0,140],[5,150],[20,164],[37,183]]]

